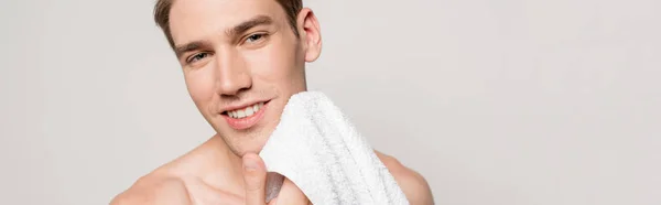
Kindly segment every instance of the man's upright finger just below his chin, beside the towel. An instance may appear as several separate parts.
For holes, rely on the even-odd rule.
[[[246,205],[264,205],[267,201],[267,169],[259,155],[243,155],[243,182],[246,183]]]

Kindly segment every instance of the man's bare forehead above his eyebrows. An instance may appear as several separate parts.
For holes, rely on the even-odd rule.
[[[170,33],[175,44],[223,34],[257,15],[282,22],[275,0],[176,0],[170,10]]]

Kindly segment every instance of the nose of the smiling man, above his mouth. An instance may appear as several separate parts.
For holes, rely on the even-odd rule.
[[[243,58],[226,50],[216,55],[216,90],[221,96],[234,96],[252,87],[252,76]]]

